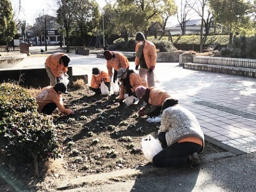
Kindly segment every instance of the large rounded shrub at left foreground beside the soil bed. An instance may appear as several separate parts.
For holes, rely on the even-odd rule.
[[[0,92],[0,148],[19,162],[32,157],[38,173],[38,159],[58,155],[55,125],[50,116],[37,112],[26,88],[2,83]]]

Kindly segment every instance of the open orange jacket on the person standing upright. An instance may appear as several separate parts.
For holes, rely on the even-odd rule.
[[[139,45],[136,44],[135,47],[135,53],[139,50]],[[143,48],[144,58],[147,65],[147,68],[150,68],[150,66],[156,65],[156,46],[154,43],[151,43],[150,41],[145,40],[145,45]],[[135,57],[135,65],[140,65],[140,59]]]

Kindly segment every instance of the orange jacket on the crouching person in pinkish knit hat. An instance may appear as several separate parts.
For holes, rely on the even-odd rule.
[[[166,98],[170,97],[169,93],[159,87],[150,87],[149,104],[162,106]]]

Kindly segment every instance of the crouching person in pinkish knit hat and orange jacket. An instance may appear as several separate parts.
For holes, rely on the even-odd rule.
[[[171,97],[168,92],[159,87],[147,88],[139,86],[136,88],[135,93],[139,99],[143,99],[146,102],[146,105],[139,110],[140,116],[159,116],[165,99]]]

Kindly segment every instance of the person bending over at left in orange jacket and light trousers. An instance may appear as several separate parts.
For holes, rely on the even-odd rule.
[[[46,58],[45,68],[48,77],[50,78],[50,85],[55,86],[57,83],[56,77],[67,73],[68,63],[70,62],[70,57],[65,53],[53,53]]]

